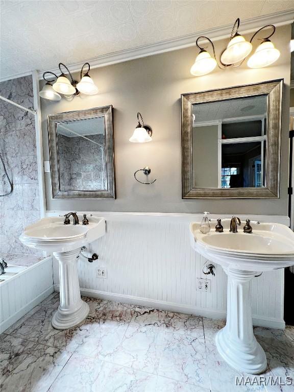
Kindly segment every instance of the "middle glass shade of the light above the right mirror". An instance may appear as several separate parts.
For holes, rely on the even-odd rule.
[[[220,56],[220,61],[225,65],[238,63],[252,51],[252,44],[241,35],[236,35],[228,43],[227,49]]]

